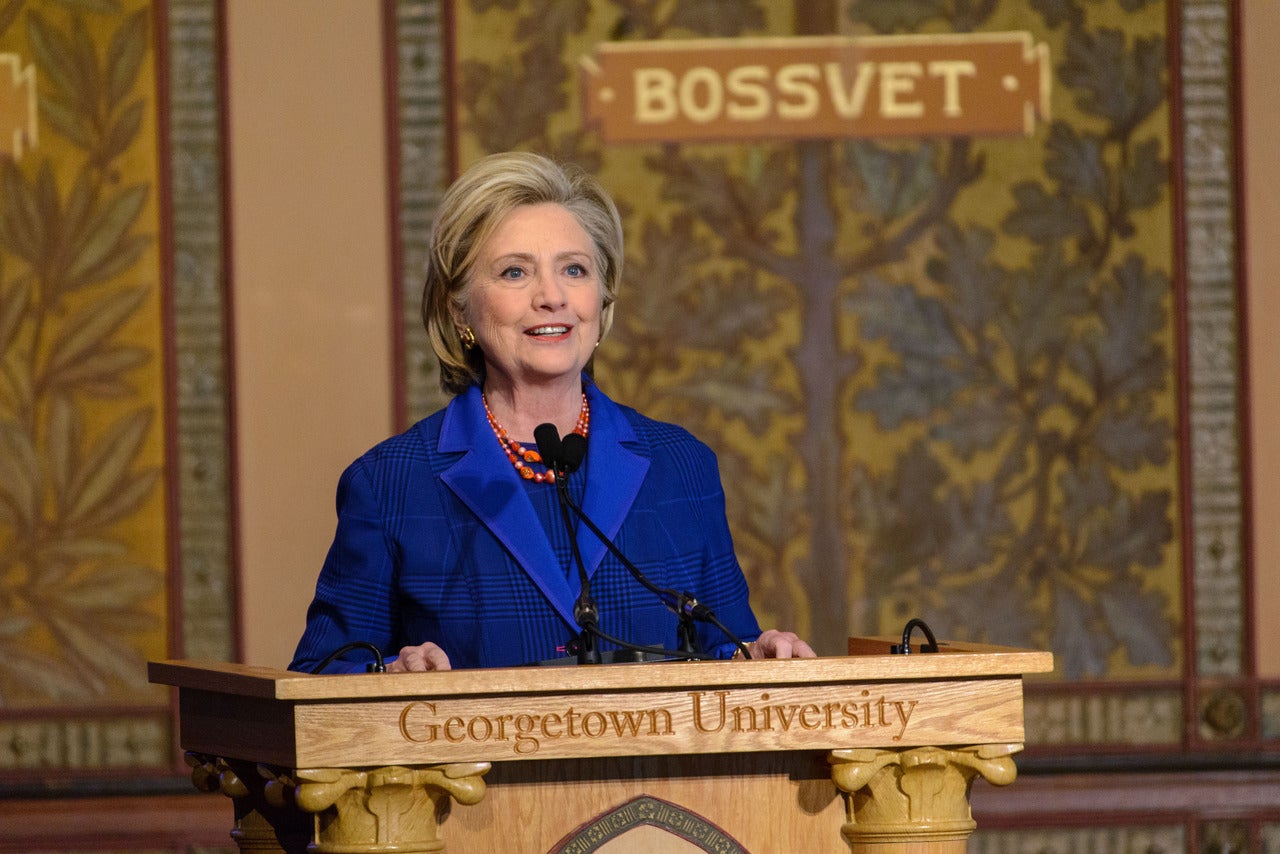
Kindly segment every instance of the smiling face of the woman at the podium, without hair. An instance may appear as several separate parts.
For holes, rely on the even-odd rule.
[[[465,323],[484,352],[486,385],[577,379],[600,337],[596,251],[554,204],[522,205],[481,246]]]

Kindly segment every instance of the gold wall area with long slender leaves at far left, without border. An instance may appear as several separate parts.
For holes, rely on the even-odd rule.
[[[166,652],[169,540],[151,8],[0,10],[37,117],[0,154],[0,708],[163,705],[145,665]]]

